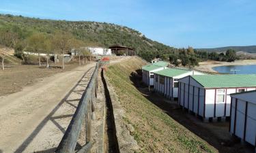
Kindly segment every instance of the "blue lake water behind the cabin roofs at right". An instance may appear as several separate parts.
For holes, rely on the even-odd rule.
[[[233,74],[234,71],[231,70],[238,70],[236,74],[256,74],[256,65],[227,65],[227,66],[220,66],[220,67],[213,67],[215,71],[219,73],[231,73]]]

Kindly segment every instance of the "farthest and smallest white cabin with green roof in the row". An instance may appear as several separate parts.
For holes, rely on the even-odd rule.
[[[162,69],[166,69],[167,62],[158,61],[142,67],[142,80],[147,86],[154,86],[154,73]]]

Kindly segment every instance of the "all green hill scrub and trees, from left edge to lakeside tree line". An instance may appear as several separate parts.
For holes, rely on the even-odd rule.
[[[41,35],[42,39],[40,38],[41,41],[38,40],[38,43],[35,43],[35,40],[33,42],[35,35]],[[208,59],[231,62],[238,58],[233,50],[229,50],[230,53],[218,54],[216,52],[209,53],[204,50],[194,50],[192,47],[173,48],[148,39],[145,35],[134,29],[106,22],[41,20],[38,18],[0,14],[0,36],[4,36],[4,39],[0,37],[0,44],[16,48],[16,56],[19,58],[22,58],[21,50],[24,49],[38,52],[33,44],[41,46],[39,48],[40,52],[48,53],[49,50],[46,49],[46,46],[51,42],[54,42],[53,47],[55,49],[53,51],[52,48],[51,52],[56,52],[57,50],[59,54],[68,52],[70,48],[77,48],[77,44],[83,47],[101,46],[106,48],[113,44],[119,44],[134,48],[137,55],[147,61],[161,58],[164,61],[170,61],[173,65],[187,67],[195,67],[199,61]],[[43,40],[45,39],[44,37],[55,41],[45,41]],[[67,38],[66,45],[63,48],[63,38],[65,37]],[[60,39],[62,39],[62,42],[60,42]],[[70,41],[71,39],[76,41]],[[78,40],[83,43],[77,43]],[[45,44],[45,42],[47,43]],[[38,58],[38,61],[40,61],[40,56]]]

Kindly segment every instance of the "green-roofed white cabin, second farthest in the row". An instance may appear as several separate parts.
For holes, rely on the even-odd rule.
[[[202,75],[199,71],[189,69],[167,68],[154,72],[154,91],[165,97],[177,98],[179,79],[188,75]]]

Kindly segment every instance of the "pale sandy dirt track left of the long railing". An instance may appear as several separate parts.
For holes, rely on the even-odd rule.
[[[87,86],[89,69],[94,66],[90,63],[57,73],[0,97],[0,152],[54,152]],[[86,71],[88,75],[83,77]]]

